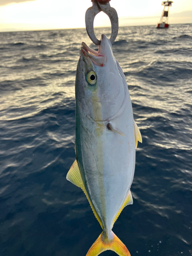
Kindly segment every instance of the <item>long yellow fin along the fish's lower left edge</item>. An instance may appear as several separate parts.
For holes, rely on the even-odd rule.
[[[88,196],[88,193],[86,191],[86,188],[84,187],[84,184],[83,184],[83,181],[82,181],[82,177],[81,177],[81,173],[80,173],[80,170],[79,170],[79,166],[78,166],[78,162],[77,160],[75,159],[74,163],[71,165],[71,168],[69,169],[69,172],[67,174],[67,180],[69,180],[71,183],[73,183],[74,185],[80,187],[84,194],[86,194],[86,197],[91,205],[91,208],[93,210],[93,213],[96,217],[96,219],[98,220],[99,224],[101,225],[102,229],[103,229],[103,226],[102,226],[102,223],[99,219],[99,216],[97,215],[97,212],[95,211],[93,205],[92,205],[92,202]]]

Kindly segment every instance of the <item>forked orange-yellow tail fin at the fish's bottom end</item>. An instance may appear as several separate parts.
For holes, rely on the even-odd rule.
[[[131,256],[129,250],[127,250],[126,246],[121,242],[121,240],[111,231],[112,240],[108,241],[104,237],[103,232],[97,238],[95,243],[91,246],[86,256],[97,256],[101,252],[106,250],[115,251],[119,256]],[[107,241],[106,241],[107,240]]]

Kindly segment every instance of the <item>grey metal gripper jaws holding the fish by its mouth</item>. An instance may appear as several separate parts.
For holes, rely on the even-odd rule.
[[[93,2],[93,6],[88,8],[88,10],[86,11],[86,30],[90,39],[92,40],[92,42],[94,42],[95,45],[100,46],[101,41],[98,40],[97,37],[95,36],[93,22],[94,22],[95,16],[99,12],[103,11],[104,13],[106,13],[106,15],[109,16],[111,20],[112,33],[111,33],[110,41],[111,43],[113,43],[115,41],[115,38],[117,37],[118,27],[119,27],[118,15],[116,10],[110,6],[109,2],[99,3],[96,0],[92,0],[92,2]]]

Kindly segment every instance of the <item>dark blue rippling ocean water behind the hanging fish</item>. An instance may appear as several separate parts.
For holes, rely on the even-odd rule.
[[[97,50],[86,29],[0,33],[1,256],[83,256],[101,233],[66,180],[81,41]],[[192,24],[120,27],[113,50],[143,138],[113,231],[132,256],[192,255]]]

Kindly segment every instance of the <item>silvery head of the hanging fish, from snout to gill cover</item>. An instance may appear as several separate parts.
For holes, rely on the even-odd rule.
[[[82,42],[75,83],[76,104],[95,121],[110,121],[125,100],[127,85],[124,86],[119,69],[111,42],[104,34],[98,52]]]

